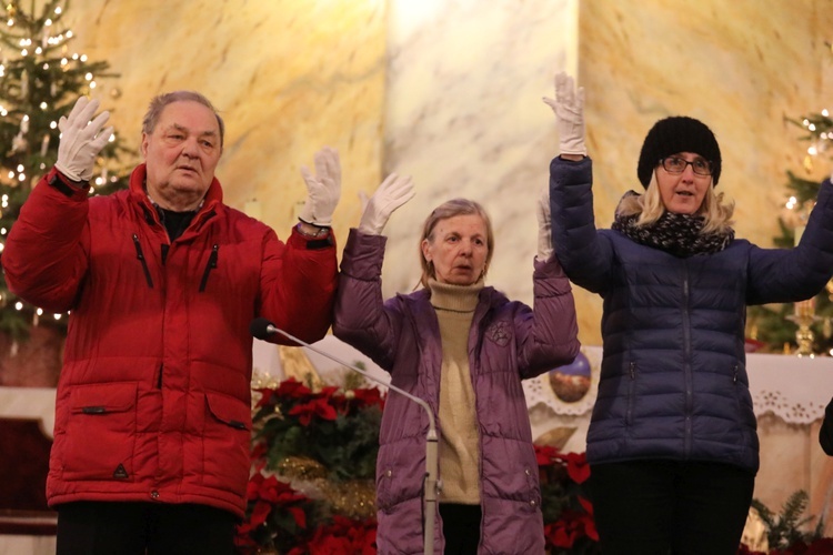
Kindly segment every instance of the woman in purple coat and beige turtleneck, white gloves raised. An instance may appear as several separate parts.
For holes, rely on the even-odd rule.
[[[431,212],[420,236],[423,289],[382,299],[390,214],[413,196],[390,175],[350,230],[333,332],[424,400],[440,433],[436,553],[541,554],[541,492],[521,380],[579,353],[570,283],[552,255],[549,203],[539,205],[534,307],[483,283],[494,251],[476,202],[454,199]],[[381,554],[423,553],[428,416],[388,397],[377,461]]]

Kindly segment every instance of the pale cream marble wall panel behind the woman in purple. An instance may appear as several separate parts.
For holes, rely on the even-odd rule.
[[[486,282],[531,302],[535,208],[558,144],[553,72],[575,72],[575,0],[390,2],[385,172],[413,175],[416,196],[394,213],[383,283],[419,281],[422,223],[438,204],[471,198],[496,236]]]

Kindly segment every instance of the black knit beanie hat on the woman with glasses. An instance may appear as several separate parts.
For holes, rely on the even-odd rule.
[[[712,185],[720,179],[720,147],[705,123],[685,115],[672,115],[654,123],[642,143],[636,174],[648,189],[654,168],[665,157],[678,152],[694,152],[712,163]]]

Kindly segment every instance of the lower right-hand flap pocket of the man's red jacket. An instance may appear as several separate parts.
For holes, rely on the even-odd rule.
[[[249,481],[251,408],[237,397],[205,393],[203,484],[244,495]]]

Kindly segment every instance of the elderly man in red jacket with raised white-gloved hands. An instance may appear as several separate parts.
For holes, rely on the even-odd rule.
[[[61,118],[58,162],[2,255],[11,291],[71,310],[47,483],[58,553],[228,554],[249,477],[249,323],[327,333],[338,154],[302,170],[309,198],[282,242],[223,204],[223,121],[195,92],[154,98],[129,189],[89,198],[112,131],[98,107]]]

